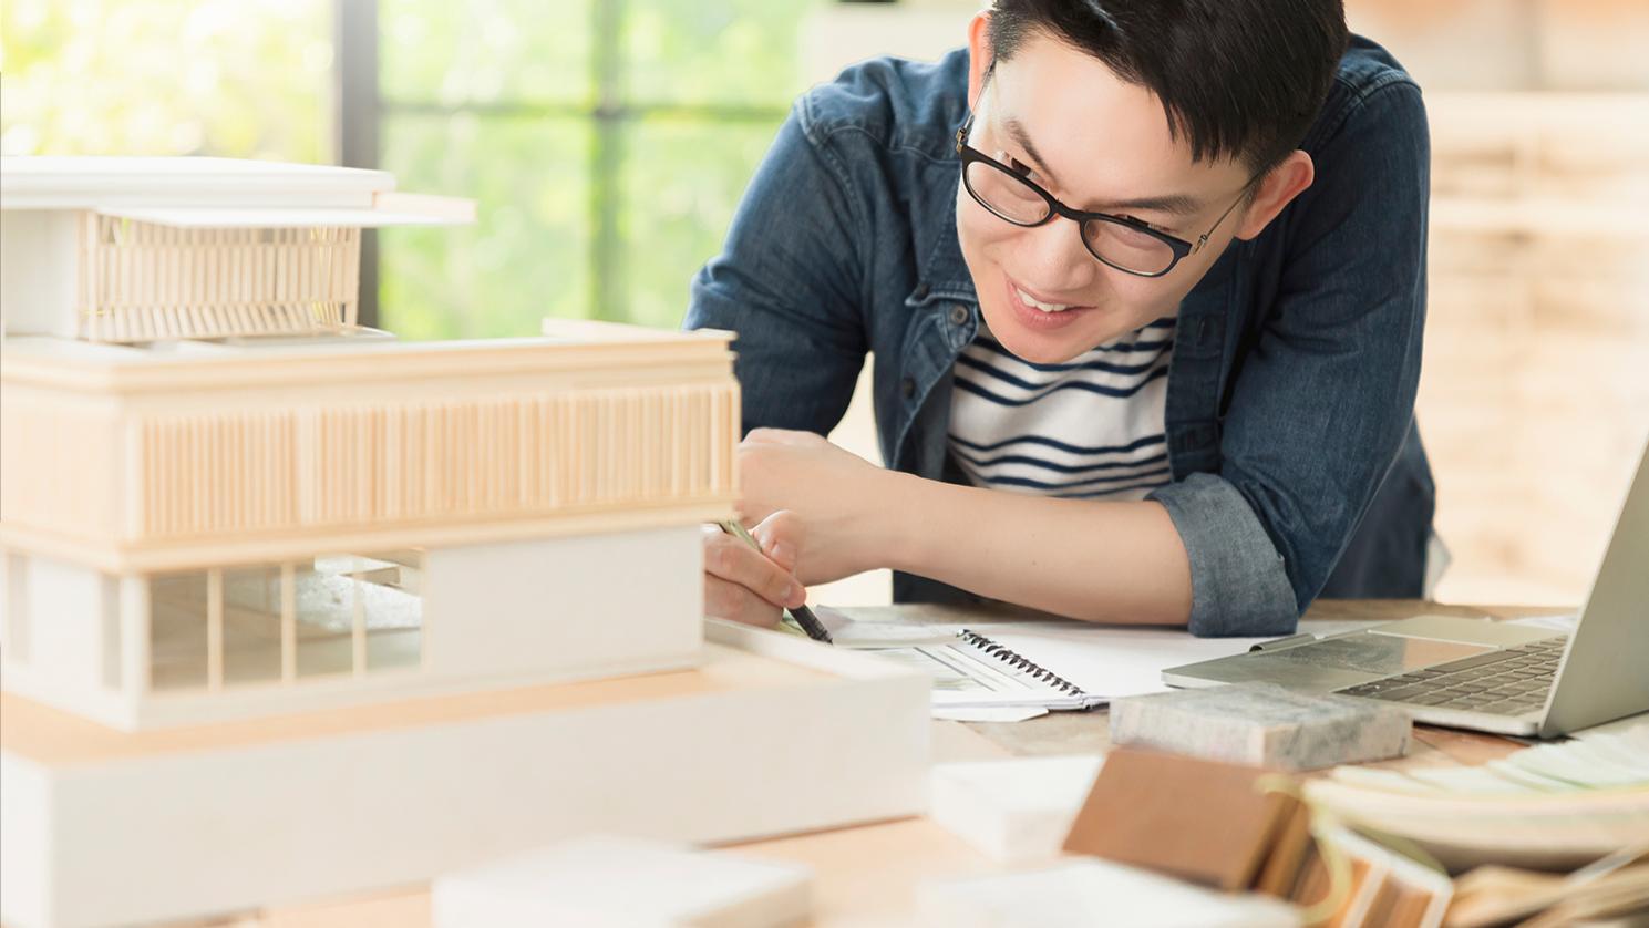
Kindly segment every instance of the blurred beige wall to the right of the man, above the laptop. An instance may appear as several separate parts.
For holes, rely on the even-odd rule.
[[[1418,415],[1454,602],[1576,605],[1649,434],[1649,3],[1354,0],[1431,117]]]

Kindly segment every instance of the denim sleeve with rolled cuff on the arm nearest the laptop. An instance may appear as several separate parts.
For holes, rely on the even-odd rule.
[[[1278,218],[1285,267],[1230,387],[1220,468],[1151,494],[1191,559],[1196,635],[1293,631],[1413,419],[1430,196],[1420,89],[1367,91],[1313,157],[1316,181]]]

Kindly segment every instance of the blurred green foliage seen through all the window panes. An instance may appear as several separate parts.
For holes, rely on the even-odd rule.
[[[5,153],[331,162],[335,3],[5,0]],[[381,166],[472,227],[379,234],[379,323],[676,326],[824,0],[378,0]]]

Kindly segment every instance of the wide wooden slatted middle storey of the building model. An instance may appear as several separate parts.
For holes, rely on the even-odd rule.
[[[206,391],[198,384],[244,364],[175,363],[170,377],[89,389],[124,368],[87,368],[74,382],[15,356],[0,374],[0,532],[73,542],[117,569],[165,569],[201,565],[193,547],[168,554],[181,542],[211,542],[211,565],[256,559],[262,541],[294,532],[401,546],[437,523],[612,509],[679,519],[666,513],[732,499],[739,387],[721,343],[678,348],[684,366],[650,346],[653,361],[617,353],[617,369],[574,373],[577,348],[518,341],[516,369],[500,376],[498,349],[477,343],[444,349],[447,374],[430,379],[422,366],[399,371],[407,353],[389,344],[340,358],[378,371],[369,382],[320,376],[315,356],[295,356],[285,376],[257,359],[257,382]]]

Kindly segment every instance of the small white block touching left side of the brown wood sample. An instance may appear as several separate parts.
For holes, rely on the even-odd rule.
[[[942,763],[928,814],[999,862],[1045,860],[1065,842],[1100,763],[1098,755]]]

